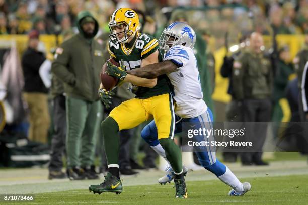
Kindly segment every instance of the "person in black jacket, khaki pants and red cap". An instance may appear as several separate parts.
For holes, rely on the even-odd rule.
[[[30,140],[47,143],[47,133],[50,117],[47,104],[48,89],[45,87],[40,74],[40,66],[45,61],[44,53],[37,50],[39,32],[33,30],[29,33],[28,48],[22,56],[25,87],[23,97],[29,109]]]

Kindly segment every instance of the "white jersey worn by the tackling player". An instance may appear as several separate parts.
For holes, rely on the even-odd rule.
[[[171,60],[180,67],[176,72],[169,73],[174,86],[176,114],[181,118],[194,118],[207,109],[203,101],[197,60],[191,48],[176,45],[164,55],[164,61]]]

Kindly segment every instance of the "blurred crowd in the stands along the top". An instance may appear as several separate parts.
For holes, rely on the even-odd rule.
[[[38,30],[40,34],[59,34],[75,26],[76,15],[82,10],[92,12],[100,28],[108,30],[109,16],[115,8],[130,7],[158,20],[162,12],[168,13],[176,7],[201,8],[230,4],[244,7],[211,10],[202,15],[194,12],[189,18],[194,19],[196,24],[204,23],[202,26],[211,27],[226,27],[228,22],[241,20],[243,30],[254,27],[262,34],[268,34],[270,29],[277,30],[278,34],[301,34],[308,29],[306,0],[0,0],[0,34],[26,34],[32,29]],[[200,19],[203,21],[200,22]],[[249,19],[255,19],[253,24]],[[219,24],[212,24],[218,20]],[[157,23],[161,26],[164,22]]]

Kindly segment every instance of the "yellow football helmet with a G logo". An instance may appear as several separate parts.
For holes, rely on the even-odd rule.
[[[117,9],[112,13],[108,26],[111,41],[115,44],[126,43],[139,28],[138,14],[129,8]]]

